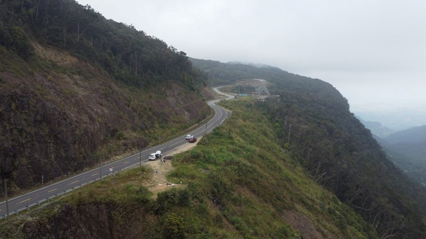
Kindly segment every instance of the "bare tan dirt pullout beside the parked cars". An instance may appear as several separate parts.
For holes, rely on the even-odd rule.
[[[197,142],[195,143],[186,143],[182,146],[175,148],[171,152],[168,152],[166,155],[164,154],[162,159],[164,159],[166,156],[173,156],[175,154],[190,150],[191,148],[195,147],[195,145],[197,145],[200,139],[201,137],[198,138]],[[172,184],[168,182],[166,179],[166,175],[170,170],[173,169],[172,162],[171,160],[165,160],[165,162],[163,162],[162,159],[148,161],[145,163],[145,165],[150,166],[154,171],[151,180],[149,180],[145,184],[145,186],[148,187],[148,189],[154,193],[154,197],[157,197],[158,192],[165,191],[170,187],[185,187],[187,184],[187,182],[182,182],[182,185]]]

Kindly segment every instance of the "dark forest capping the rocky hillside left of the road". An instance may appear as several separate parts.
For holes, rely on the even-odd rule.
[[[3,0],[0,14],[0,45],[24,59],[34,54],[29,29],[37,41],[78,54],[128,84],[155,86],[172,77],[196,87],[205,80],[185,52],[74,0]]]

